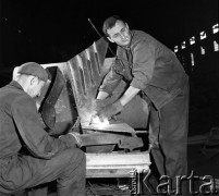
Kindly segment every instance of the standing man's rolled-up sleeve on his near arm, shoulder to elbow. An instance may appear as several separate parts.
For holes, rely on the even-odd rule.
[[[145,89],[155,69],[155,49],[147,42],[138,42],[133,51],[133,81],[131,86]]]

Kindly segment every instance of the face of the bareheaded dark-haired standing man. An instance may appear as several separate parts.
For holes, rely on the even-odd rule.
[[[111,42],[115,42],[119,46],[127,46],[131,41],[130,28],[126,23],[117,21],[115,25],[107,30]]]

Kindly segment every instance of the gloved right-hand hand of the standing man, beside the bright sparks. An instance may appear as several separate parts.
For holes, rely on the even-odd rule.
[[[100,121],[104,121],[105,118],[110,119],[112,115],[115,115],[122,110],[123,106],[121,105],[120,100],[118,100],[111,105],[107,105],[97,113],[97,115],[99,117]]]

